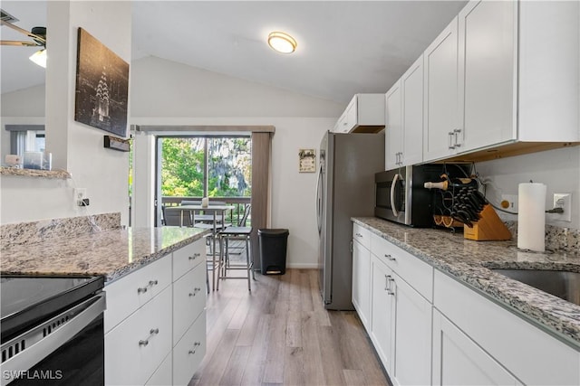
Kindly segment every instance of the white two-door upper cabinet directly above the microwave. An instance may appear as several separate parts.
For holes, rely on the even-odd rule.
[[[385,94],[385,170],[423,160],[423,55]]]

